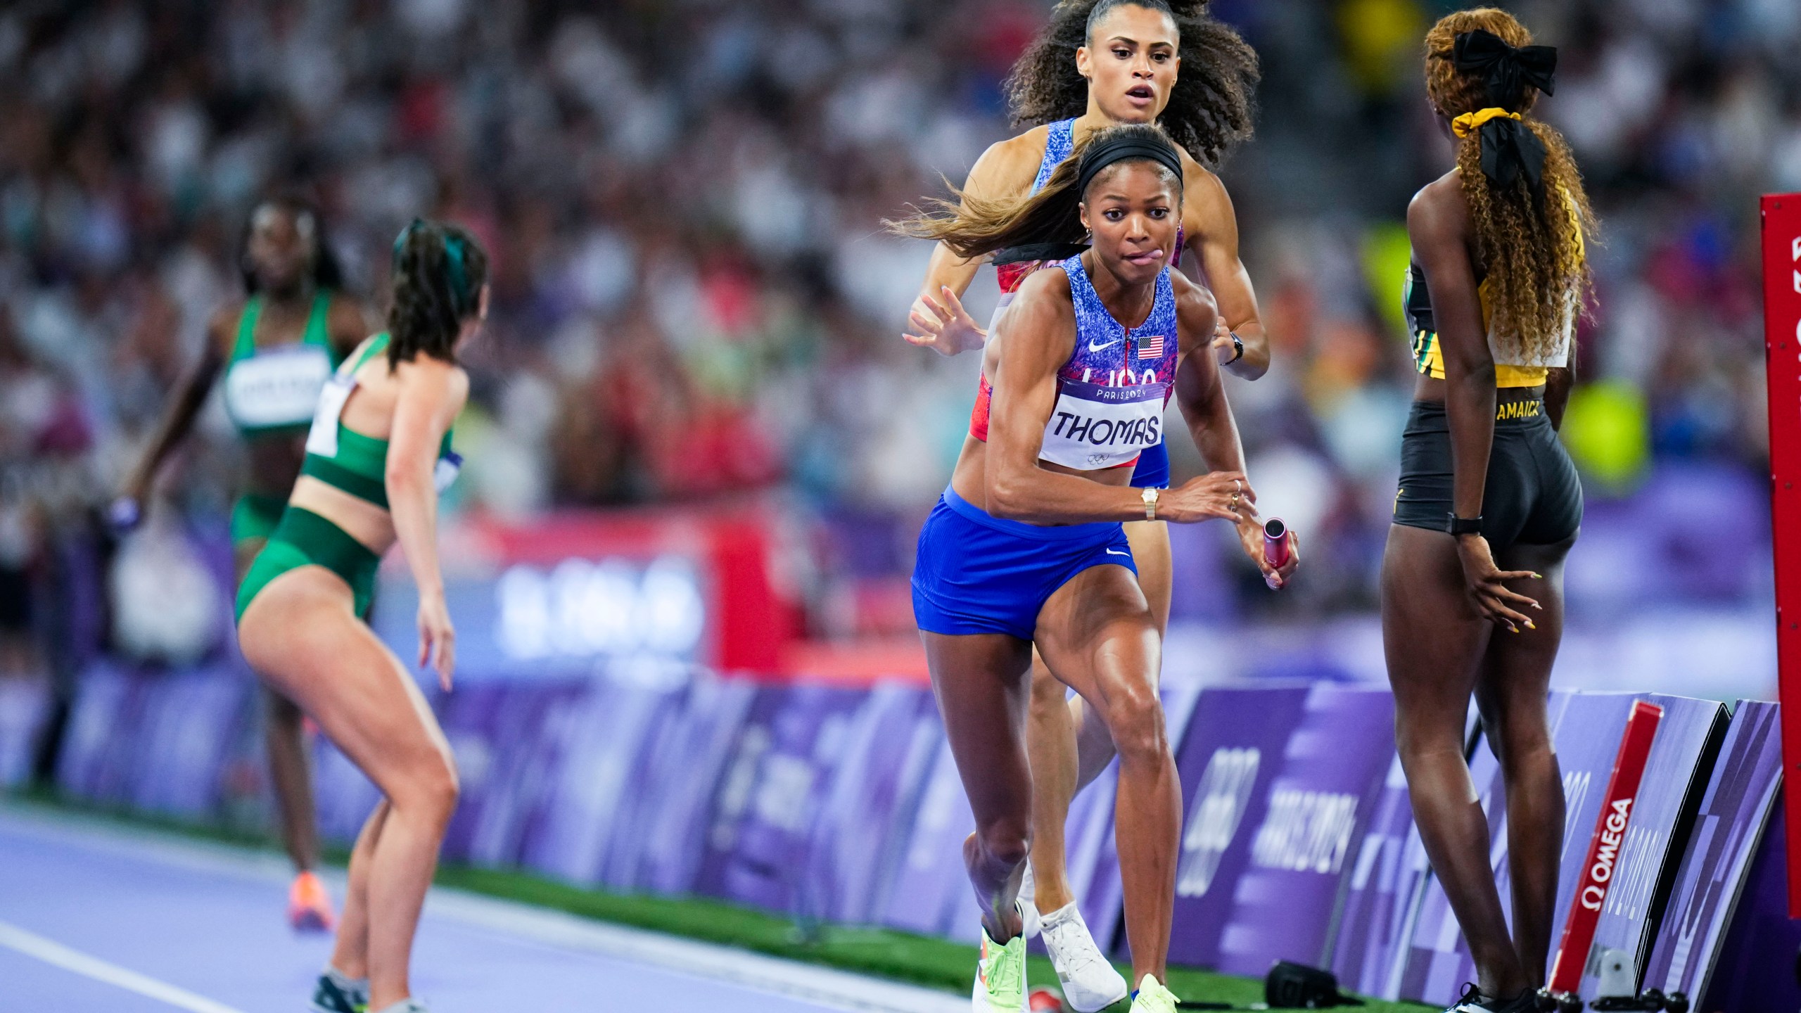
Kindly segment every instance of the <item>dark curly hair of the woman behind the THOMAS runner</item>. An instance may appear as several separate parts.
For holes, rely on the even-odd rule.
[[[1162,11],[1176,22],[1181,70],[1156,123],[1196,162],[1217,168],[1255,128],[1263,72],[1257,50],[1208,14],[1207,0],[1061,0],[1007,76],[1012,124],[1037,126],[1088,110],[1088,79],[1075,72],[1075,50],[1088,45],[1091,27],[1108,11],[1126,5]]]

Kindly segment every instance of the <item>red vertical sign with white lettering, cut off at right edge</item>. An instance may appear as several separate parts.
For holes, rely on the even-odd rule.
[[[1763,351],[1783,770],[1801,773],[1801,193],[1763,196]],[[1801,806],[1788,806],[1788,916],[1801,917]]]

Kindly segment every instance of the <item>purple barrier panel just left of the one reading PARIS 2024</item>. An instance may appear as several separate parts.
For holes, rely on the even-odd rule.
[[[1176,750],[1185,820],[1171,963],[1217,966],[1234,892],[1268,813],[1270,784],[1306,703],[1306,685],[1201,692]]]

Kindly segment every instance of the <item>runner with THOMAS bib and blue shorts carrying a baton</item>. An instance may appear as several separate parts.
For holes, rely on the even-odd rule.
[[[1095,132],[1025,200],[962,195],[942,216],[897,225],[962,258],[1027,243],[1066,252],[1084,229],[1093,238],[1086,252],[1027,278],[998,321],[983,353],[991,384],[976,406],[985,440],[964,440],[913,570],[933,690],[976,815],[964,860],[983,912],[978,1011],[1025,1008],[1016,901],[1032,840],[1025,712],[1034,643],[1118,752],[1133,1009],[1174,1011],[1163,961],[1181,789],[1156,696],[1162,634],[1120,521],[1230,519],[1244,552],[1273,573],[1208,353],[1214,301],[1169,270],[1181,187],[1180,153],[1162,130],[1117,126]],[[1171,391],[1201,458],[1219,470],[1167,492],[1131,488],[1131,465],[1162,442]]]

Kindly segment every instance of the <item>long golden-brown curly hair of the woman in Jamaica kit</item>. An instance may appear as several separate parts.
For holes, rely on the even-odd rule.
[[[1513,14],[1479,7],[1446,14],[1426,32],[1426,96],[1439,114],[1457,117],[1493,106],[1486,81],[1457,70],[1452,47],[1462,32],[1486,29],[1507,45],[1529,45],[1533,34]],[[1518,108],[1522,123],[1545,144],[1543,186],[1524,175],[1498,186],[1482,173],[1480,132],[1457,142],[1457,175],[1470,202],[1475,247],[1489,287],[1489,332],[1520,342],[1533,360],[1556,351],[1592,292],[1585,236],[1596,218],[1576,171],[1576,157],[1556,128],[1527,119],[1538,90],[1527,87]]]

